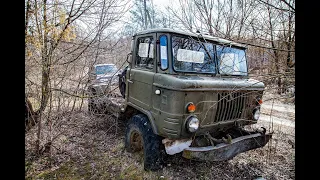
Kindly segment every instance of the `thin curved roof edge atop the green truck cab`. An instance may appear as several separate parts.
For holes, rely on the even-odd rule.
[[[232,45],[232,46],[237,46],[237,47],[241,47],[241,48],[246,48],[246,46],[243,45],[243,44],[236,43],[234,41],[230,41],[230,40],[227,40],[227,39],[223,39],[223,38],[219,38],[219,37],[215,37],[215,36],[210,36],[210,35],[206,35],[206,34],[195,33],[195,32],[173,30],[173,29],[170,29],[170,28],[147,29],[147,30],[143,30],[143,31],[137,32],[133,36],[149,34],[149,33],[175,33],[175,34],[192,36],[192,37],[195,37],[195,38],[197,38],[198,36],[202,36],[206,40],[212,40],[212,41],[218,42],[220,44]]]

